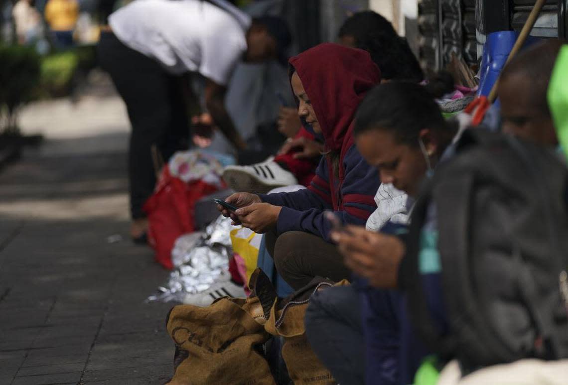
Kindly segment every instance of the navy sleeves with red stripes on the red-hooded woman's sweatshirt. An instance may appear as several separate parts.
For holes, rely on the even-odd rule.
[[[323,215],[324,210],[332,210],[331,194],[327,178],[327,165],[323,160],[316,171],[310,187],[296,193],[261,195],[263,202],[282,206],[278,216],[276,231],[304,231],[329,241],[331,224]],[[322,167],[323,166],[323,167]],[[344,211],[336,215],[345,224],[365,225],[367,217],[377,208],[374,195],[379,187],[379,178],[358,153],[355,146],[344,157],[345,178],[341,188]]]

